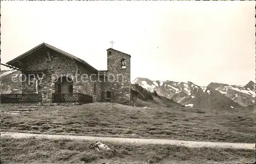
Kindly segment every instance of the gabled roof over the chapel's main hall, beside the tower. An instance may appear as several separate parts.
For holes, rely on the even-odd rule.
[[[6,64],[12,65],[12,64],[14,64],[15,62],[19,61],[20,59],[23,59],[23,58],[25,58],[25,57],[31,55],[32,53],[38,51],[38,50],[41,49],[41,48],[49,48],[49,49],[52,49],[52,50],[54,50],[54,51],[56,51],[56,52],[58,52],[58,53],[60,53],[60,54],[62,54],[62,55],[64,55],[64,56],[67,56],[67,57],[69,57],[69,58],[71,58],[71,59],[74,59],[74,60],[76,60],[76,61],[79,61],[80,63],[82,63],[82,64],[84,64],[84,65],[87,65],[87,66],[91,67],[94,71],[97,71],[97,72],[98,72],[98,70],[97,70],[96,68],[94,68],[93,66],[91,66],[91,65],[90,65],[89,63],[87,63],[86,61],[84,61],[84,60],[82,60],[82,59],[80,59],[80,58],[78,58],[78,57],[75,57],[75,56],[73,56],[73,55],[71,55],[71,54],[69,54],[69,53],[66,53],[66,52],[64,52],[64,51],[62,51],[62,50],[59,50],[59,49],[55,48],[54,46],[49,45],[49,44],[47,44],[47,43],[41,43],[41,44],[37,45],[35,48],[33,48],[33,49],[29,50],[28,52],[26,52],[26,53],[24,53],[24,54],[22,54],[22,55],[16,57],[15,59],[13,59],[13,60],[11,60],[11,61],[8,61]]]

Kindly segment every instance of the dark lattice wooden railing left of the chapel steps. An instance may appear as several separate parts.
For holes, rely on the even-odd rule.
[[[39,93],[7,93],[1,94],[1,103],[41,103]]]

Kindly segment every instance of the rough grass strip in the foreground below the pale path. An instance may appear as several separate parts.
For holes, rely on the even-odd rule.
[[[93,142],[69,139],[3,138],[3,163],[253,163],[254,150],[187,148],[104,142],[114,152],[90,149]]]

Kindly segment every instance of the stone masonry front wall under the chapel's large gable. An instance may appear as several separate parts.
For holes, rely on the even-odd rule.
[[[43,76],[43,79],[41,80],[41,83],[39,83],[39,93],[42,93],[42,102],[50,102],[52,99],[52,93],[55,92],[54,88],[54,81],[61,75],[75,75],[78,74],[78,82],[73,80],[73,92],[82,92],[87,95],[93,96],[92,93],[93,85],[91,83],[81,84],[79,83],[79,72],[87,72],[86,69],[82,68],[77,64],[76,61],[63,56],[61,54],[58,54],[57,52],[53,50],[48,50],[51,54],[52,61],[49,60],[49,57],[47,53],[44,51],[41,51],[38,55],[30,55],[29,57],[26,57],[23,59],[23,63],[25,65],[26,70],[39,70],[39,69],[47,69],[45,75]],[[84,86],[83,86],[84,85]],[[98,84],[99,85],[99,84]],[[22,86],[23,92],[35,92],[35,83],[28,84],[28,80],[23,83]],[[97,98],[98,99],[98,98]]]

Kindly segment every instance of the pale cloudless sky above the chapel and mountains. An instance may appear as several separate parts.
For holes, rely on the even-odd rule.
[[[131,80],[255,82],[255,1],[2,1],[1,63],[42,42],[107,68],[130,54]],[[1,65],[1,69],[9,69]]]

